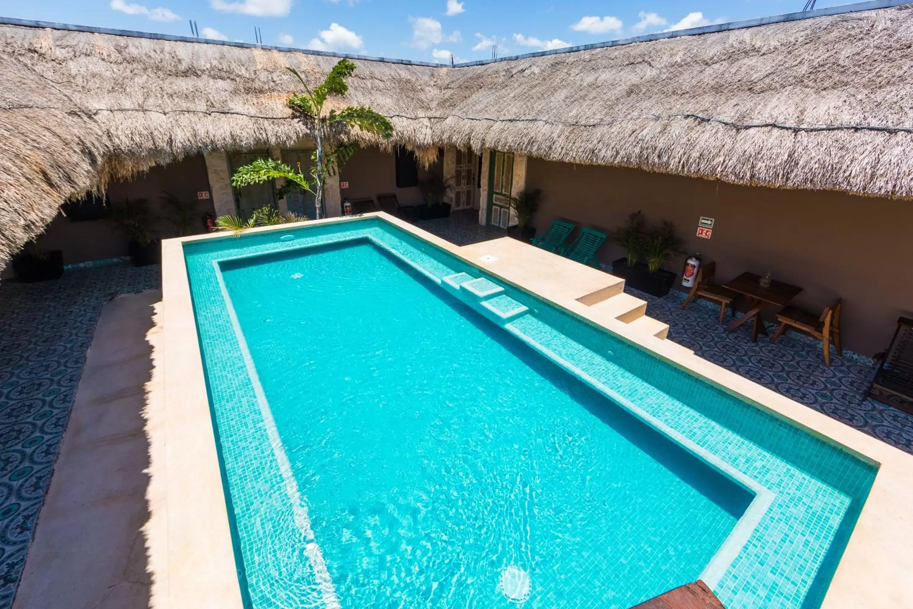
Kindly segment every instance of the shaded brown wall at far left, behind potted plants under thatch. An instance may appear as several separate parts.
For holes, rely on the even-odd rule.
[[[174,236],[173,223],[167,219],[171,208],[162,201],[163,191],[190,201],[194,204],[194,231],[203,232],[200,219],[205,212],[213,211],[212,199],[199,201],[198,191],[208,191],[209,181],[206,176],[206,163],[203,155],[188,157],[177,163],[153,167],[133,180],[110,184],[108,196],[111,206],[122,207],[128,197],[149,200],[150,214],[155,218],[153,228],[162,236]],[[89,220],[71,222],[69,218],[58,215],[47,226],[45,234],[39,238],[45,249],[63,250],[64,264],[75,264],[89,260],[103,260],[127,255],[127,237],[112,220]]]

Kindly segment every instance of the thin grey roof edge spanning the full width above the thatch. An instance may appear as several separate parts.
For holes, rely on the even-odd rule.
[[[578,45],[575,47],[555,48],[548,51],[537,51],[534,53],[524,53],[521,55],[510,55],[503,58],[477,59],[476,61],[464,61],[454,64],[453,66],[431,61],[414,61],[412,59],[395,59],[373,57],[368,55],[353,55],[351,53],[334,53],[331,51],[318,51],[310,48],[298,47],[275,47],[271,45],[258,45],[250,42],[232,42],[230,40],[210,40],[209,38],[173,36],[171,34],[156,34],[153,32],[141,32],[138,30],[114,29],[110,27],[96,26],[77,26],[65,23],[56,23],[53,21],[34,21],[30,19],[16,19],[13,17],[0,16],[0,26],[21,26],[36,27],[41,29],[59,29],[71,32],[87,32],[90,34],[107,34],[110,36],[125,36],[135,38],[149,38],[152,40],[169,40],[172,42],[192,42],[205,45],[221,45],[223,47],[239,48],[262,48],[272,51],[282,51],[287,53],[304,53],[307,55],[320,55],[333,58],[359,59],[361,61],[380,61],[383,63],[402,64],[405,66],[422,66],[425,68],[470,68],[472,66],[484,66],[501,61],[514,61],[516,59],[540,58],[548,55],[562,55],[564,53],[577,53],[588,51],[596,48],[623,47],[638,42],[651,42],[654,40],[663,40],[666,38],[677,38],[683,36],[700,36],[702,34],[712,34],[715,32],[726,32],[736,29],[746,29],[749,27],[769,26],[776,23],[787,23],[790,21],[801,21],[803,19],[813,19],[814,17],[844,15],[847,13],[858,13],[861,11],[871,11],[879,8],[891,8],[893,6],[902,6],[913,4],[913,0],[870,0],[868,2],[858,2],[849,5],[829,6],[827,8],[816,8],[812,11],[799,11],[796,13],[785,13],[783,15],[772,15],[765,17],[756,17],[754,19],[745,19],[742,21],[731,21],[729,23],[715,24],[712,26],[691,27],[689,29],[679,29],[673,32],[657,32],[645,36],[619,38],[616,40],[607,40],[605,42],[594,42],[589,45]]]

